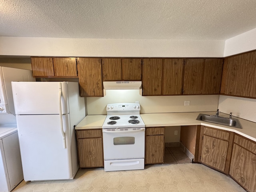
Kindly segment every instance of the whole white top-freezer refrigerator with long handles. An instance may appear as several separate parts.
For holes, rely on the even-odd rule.
[[[25,181],[73,179],[74,126],[85,117],[77,82],[12,82]]]

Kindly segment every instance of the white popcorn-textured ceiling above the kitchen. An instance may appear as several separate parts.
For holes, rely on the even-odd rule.
[[[256,28],[256,0],[0,0],[0,36],[226,40]]]

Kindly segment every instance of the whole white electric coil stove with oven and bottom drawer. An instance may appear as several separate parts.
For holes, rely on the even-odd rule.
[[[102,126],[104,170],[144,169],[145,124],[140,104],[108,104]]]

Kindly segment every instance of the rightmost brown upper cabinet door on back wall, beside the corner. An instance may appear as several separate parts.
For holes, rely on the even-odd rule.
[[[219,94],[223,59],[206,59],[202,94]]]

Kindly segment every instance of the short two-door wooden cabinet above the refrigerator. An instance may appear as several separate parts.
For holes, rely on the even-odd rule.
[[[76,58],[31,57],[35,77],[77,77]]]

